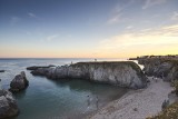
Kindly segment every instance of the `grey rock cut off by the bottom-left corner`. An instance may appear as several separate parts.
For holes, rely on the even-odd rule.
[[[16,99],[8,90],[0,90],[0,119],[14,117],[19,113]]]

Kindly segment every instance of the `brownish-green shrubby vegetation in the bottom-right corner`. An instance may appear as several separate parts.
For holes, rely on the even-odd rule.
[[[148,117],[146,119],[178,119],[178,102],[168,106],[158,113],[158,116]]]

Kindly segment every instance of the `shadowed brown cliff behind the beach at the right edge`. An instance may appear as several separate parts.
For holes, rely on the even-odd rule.
[[[144,71],[147,76],[164,78],[165,80],[178,79],[178,60],[164,58],[139,59],[144,65]]]

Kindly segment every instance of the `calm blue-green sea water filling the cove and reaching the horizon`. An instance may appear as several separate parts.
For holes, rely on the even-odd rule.
[[[68,65],[93,59],[0,59],[1,86],[9,89],[16,75],[26,71],[29,87],[14,95],[20,115],[14,119],[82,119],[86,115],[97,111],[107,102],[123,93],[126,89],[86,80],[49,80],[33,77],[26,70],[29,66]],[[98,59],[123,60],[123,59]]]

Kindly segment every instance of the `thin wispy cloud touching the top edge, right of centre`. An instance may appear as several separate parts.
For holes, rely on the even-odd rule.
[[[156,4],[165,3],[167,0],[146,0],[145,4],[142,6],[142,9],[150,8]]]

